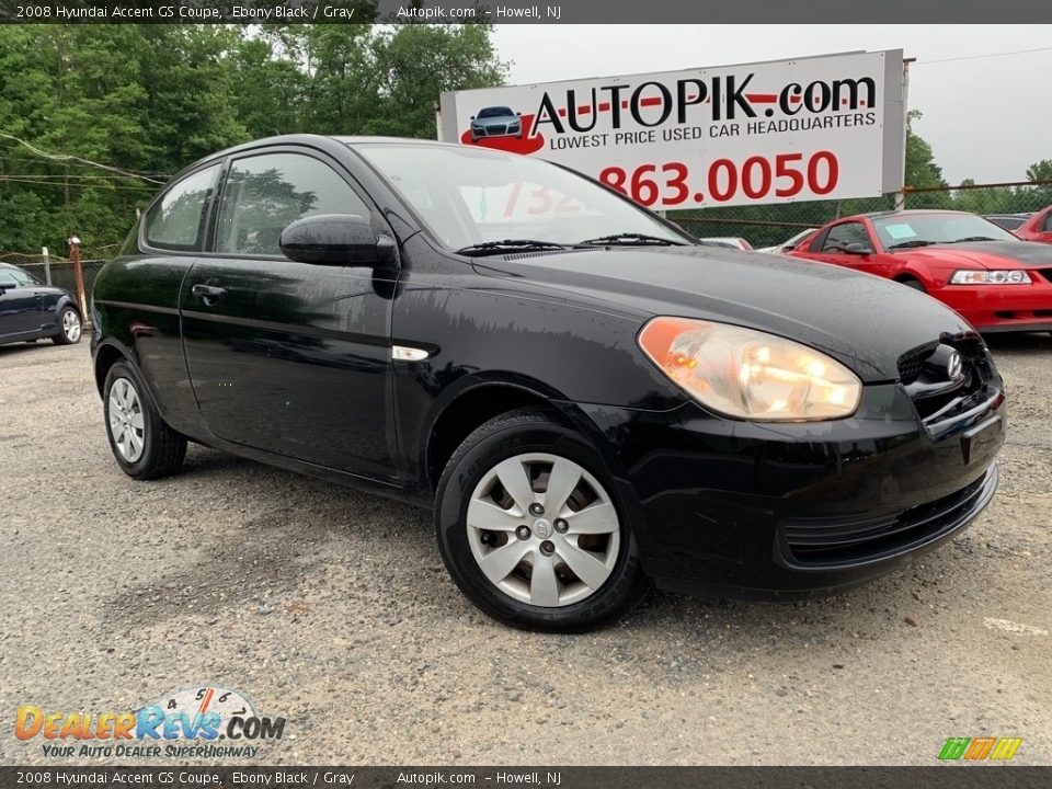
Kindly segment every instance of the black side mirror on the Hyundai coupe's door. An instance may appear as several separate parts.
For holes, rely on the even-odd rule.
[[[278,244],[289,260],[317,265],[375,266],[382,256],[369,220],[356,214],[297,219],[282,231]]]

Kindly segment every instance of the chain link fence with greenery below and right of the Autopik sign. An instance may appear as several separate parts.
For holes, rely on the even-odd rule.
[[[982,216],[1030,214],[1052,205],[1052,181],[998,184],[962,184],[911,188],[903,193],[905,208],[964,210]],[[797,233],[855,214],[887,211],[896,195],[845,201],[812,201],[767,206],[737,206],[670,211],[668,218],[698,238],[743,238],[754,249],[780,247]]]

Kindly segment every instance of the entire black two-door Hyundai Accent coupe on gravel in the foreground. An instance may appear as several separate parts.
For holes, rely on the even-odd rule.
[[[281,137],[208,157],[95,282],[117,464],[193,441],[433,507],[454,581],[581,630],[664,588],[851,586],[990,502],[980,336],[866,274],[697,244],[572,171]]]

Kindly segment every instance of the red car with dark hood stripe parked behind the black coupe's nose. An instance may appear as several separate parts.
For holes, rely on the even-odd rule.
[[[974,214],[902,210],[847,217],[788,254],[923,290],[982,332],[1052,331],[1052,247],[1021,241]]]

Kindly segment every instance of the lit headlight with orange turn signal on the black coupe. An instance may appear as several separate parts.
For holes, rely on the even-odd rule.
[[[654,318],[639,346],[662,373],[706,408],[763,422],[850,416],[862,384],[807,345],[741,327]]]

